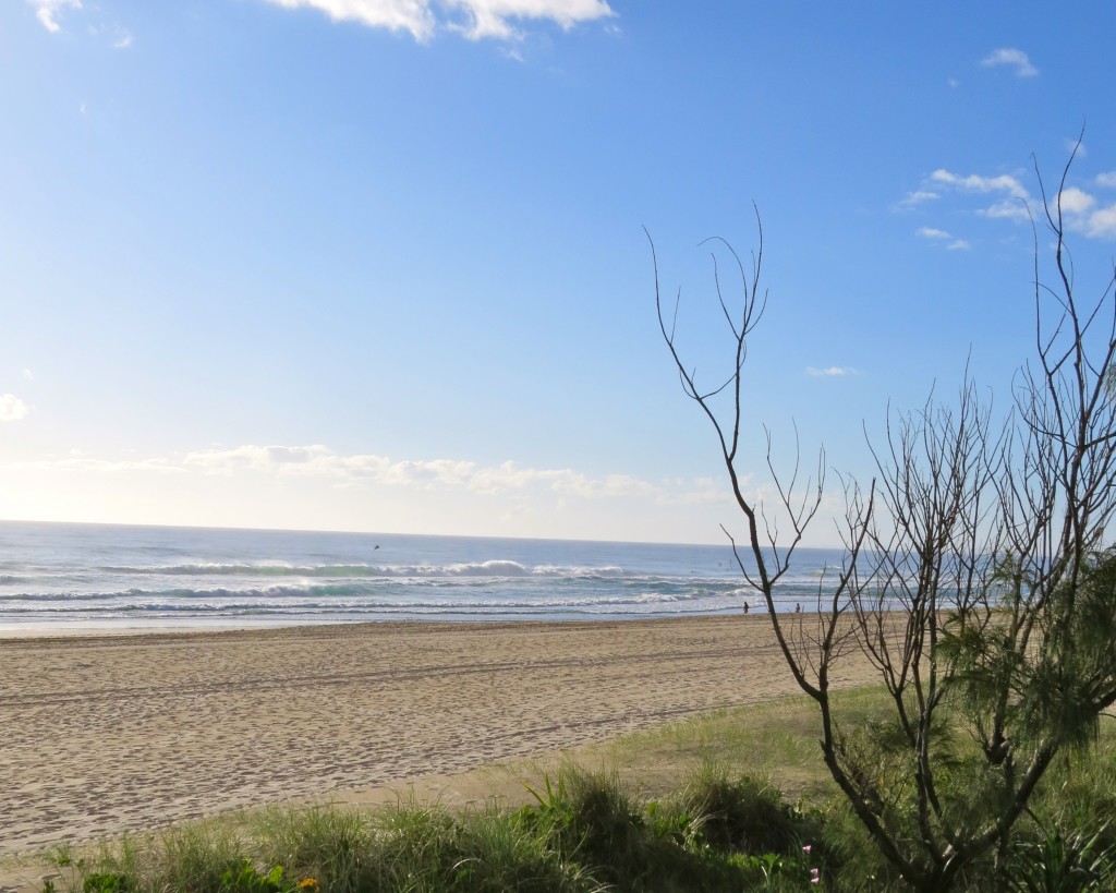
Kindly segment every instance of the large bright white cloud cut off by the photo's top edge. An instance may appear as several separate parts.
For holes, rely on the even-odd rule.
[[[517,22],[549,21],[564,29],[616,13],[606,0],[264,0],[287,9],[309,8],[334,21],[410,32],[426,41],[439,30],[456,31],[470,40],[522,37]]]

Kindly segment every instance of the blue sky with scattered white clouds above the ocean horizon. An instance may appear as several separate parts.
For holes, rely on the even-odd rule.
[[[0,519],[720,542],[721,238],[768,307],[748,493],[998,407],[1039,176],[1116,253],[1116,4],[0,0]],[[1038,228],[1041,276],[1049,236]]]

